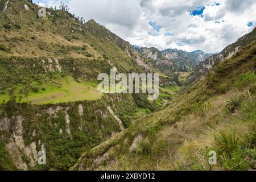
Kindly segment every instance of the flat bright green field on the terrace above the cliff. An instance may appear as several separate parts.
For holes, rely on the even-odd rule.
[[[97,92],[96,82],[76,82],[71,76],[66,76],[61,78],[58,84],[60,86],[50,84],[46,85],[44,90],[40,89],[38,92],[31,92],[28,95],[28,101],[31,101],[31,104],[42,105],[82,100],[98,100],[102,97],[102,94]],[[9,100],[8,94],[0,95],[0,103],[2,103],[3,100]],[[19,102],[26,102],[26,99],[23,98]]]

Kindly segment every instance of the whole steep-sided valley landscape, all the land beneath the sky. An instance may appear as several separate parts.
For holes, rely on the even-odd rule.
[[[256,28],[216,54],[161,51],[40,8],[0,1],[0,170],[255,170]],[[159,74],[159,97],[99,93],[111,69]]]

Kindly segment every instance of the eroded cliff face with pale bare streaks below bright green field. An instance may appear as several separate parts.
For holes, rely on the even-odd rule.
[[[104,142],[123,130],[122,121],[114,114],[113,110],[115,110],[115,104],[122,102],[126,97],[120,95],[105,96],[104,98],[107,101],[84,101],[82,104],[74,102],[49,106],[33,105],[31,109],[35,110],[31,111],[32,115],[22,115],[23,111],[28,112],[25,106],[24,110],[21,109],[19,112],[13,113],[11,117],[0,118],[0,131],[2,132],[0,140],[5,144],[16,168],[19,170],[35,169],[39,151],[46,151],[48,159],[49,152],[54,152],[53,147],[55,147],[51,144],[54,143],[51,140],[53,139],[52,135],[57,139],[69,138],[77,142],[73,137],[75,136],[73,132],[79,131],[81,134],[87,134],[91,131],[88,129],[88,125],[93,122],[95,127],[92,130],[102,133],[101,142]],[[113,110],[108,108],[108,105]],[[111,131],[108,122],[115,123]],[[120,124],[120,129],[116,127],[117,122]],[[74,123],[75,125],[73,125]],[[90,137],[93,138],[94,135]],[[84,146],[86,146],[86,142]],[[61,144],[56,147],[61,147]],[[54,158],[55,155],[59,154],[53,154],[53,157],[50,157]],[[49,160],[47,161],[49,162]],[[99,158],[98,161],[100,162],[101,159]]]

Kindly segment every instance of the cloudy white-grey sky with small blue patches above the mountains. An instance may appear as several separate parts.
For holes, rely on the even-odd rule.
[[[255,0],[34,0],[65,2],[131,44],[220,52],[256,25]]]

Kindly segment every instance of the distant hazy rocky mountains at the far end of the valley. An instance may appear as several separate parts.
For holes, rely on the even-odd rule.
[[[142,56],[151,59],[152,64],[170,77],[175,77],[176,72],[189,72],[197,64],[212,56],[203,51],[185,52],[178,49],[165,49],[160,51],[156,48],[144,48],[134,46],[134,49]],[[177,84],[178,81],[176,80]]]

